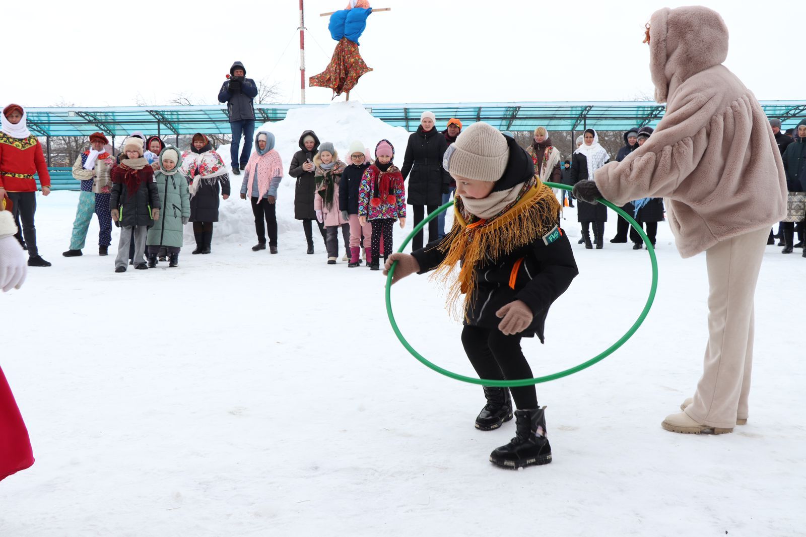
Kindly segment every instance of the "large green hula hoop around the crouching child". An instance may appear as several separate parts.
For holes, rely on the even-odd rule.
[[[545,182],[543,184],[555,189],[565,189],[565,190],[572,189],[571,186],[559,185],[557,183]],[[650,243],[649,237],[646,236],[646,233],[644,233],[642,227],[639,226],[638,223],[629,214],[625,213],[623,210],[621,210],[621,208],[614,206],[613,203],[607,201],[604,198],[599,198],[598,201],[600,203],[605,204],[605,206],[608,206],[610,209],[615,210],[618,214],[621,215],[621,217],[623,217],[627,222],[629,222],[630,226],[634,227],[635,231],[638,231],[638,234],[641,235],[641,238],[644,241],[646,251],[649,252],[650,254],[650,261],[652,262],[652,286],[650,287],[649,297],[646,298],[646,304],[644,305],[644,309],[641,311],[641,314],[638,315],[638,319],[635,321],[635,323],[633,323],[633,326],[629,327],[629,330],[626,331],[625,334],[622,335],[621,338],[619,338],[616,343],[610,345],[610,347],[607,348],[604,352],[600,352],[590,360],[584,361],[579,365],[575,365],[572,368],[565,369],[558,373],[552,373],[550,375],[545,375],[543,377],[523,378],[512,381],[499,381],[493,379],[467,377],[466,375],[459,375],[459,373],[453,373],[452,371],[448,371],[446,368],[441,368],[437,364],[430,362],[429,360],[426,359],[425,356],[422,356],[419,352],[417,352],[409,344],[409,342],[406,341],[405,337],[403,337],[400,328],[397,327],[397,323],[395,322],[395,316],[392,311],[392,296],[391,296],[392,277],[395,273],[395,269],[397,268],[397,262],[395,262],[392,264],[392,268],[389,269],[388,276],[386,277],[386,313],[388,314],[389,323],[392,324],[392,329],[395,332],[395,335],[397,335],[397,339],[399,339],[400,342],[403,343],[403,347],[405,347],[405,349],[409,351],[409,353],[411,353],[412,356],[417,358],[422,364],[426,365],[427,367],[434,369],[434,371],[436,371],[437,373],[442,373],[442,375],[454,378],[457,381],[469,382],[470,384],[479,384],[485,386],[496,386],[501,388],[530,386],[539,384],[541,382],[555,381],[559,378],[567,377],[568,375],[572,375],[574,373],[582,371],[583,369],[589,368],[593,364],[596,364],[597,362],[604,360],[607,356],[613,354],[613,352],[615,352],[617,348],[620,348],[621,345],[623,345],[630,337],[632,337],[635,331],[638,330],[638,327],[642,325],[644,319],[646,319],[646,315],[649,314],[650,308],[652,307],[652,302],[654,302],[655,292],[658,289],[658,259],[655,257],[654,248],[652,248],[652,244]],[[438,210],[435,210],[433,213],[429,214],[426,217],[426,219],[423,220],[421,223],[418,223],[418,225],[414,227],[413,231],[409,233],[409,236],[405,238],[403,244],[401,244],[401,247],[400,249],[397,250],[397,252],[403,252],[404,248],[409,244],[409,241],[411,241],[413,236],[417,234],[418,231],[422,230],[422,228],[425,227],[427,223],[437,218],[438,214],[447,210],[447,208],[452,205],[453,202],[445,203],[444,205],[440,206]]]

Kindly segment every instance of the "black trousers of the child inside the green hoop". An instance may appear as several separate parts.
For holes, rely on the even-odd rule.
[[[521,351],[520,335],[504,335],[498,329],[466,326],[462,331],[462,344],[479,378],[494,381],[532,378],[532,368]],[[509,391],[517,408],[538,407],[534,385],[510,388]]]

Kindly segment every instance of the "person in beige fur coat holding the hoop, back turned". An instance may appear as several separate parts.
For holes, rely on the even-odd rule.
[[[621,162],[596,170],[574,194],[616,205],[665,198],[680,255],[705,252],[708,344],[693,398],[663,420],[679,433],[746,423],[753,363],[754,294],[767,235],[786,214],[787,185],[761,105],[722,62],[728,29],[702,6],[655,11],[647,25],[655,100],[667,103],[654,134]]]

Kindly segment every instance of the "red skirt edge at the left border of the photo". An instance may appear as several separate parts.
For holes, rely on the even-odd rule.
[[[28,430],[0,368],[0,481],[34,464]]]

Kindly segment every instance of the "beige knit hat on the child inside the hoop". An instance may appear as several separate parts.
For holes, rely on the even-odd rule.
[[[442,167],[453,177],[495,182],[501,179],[509,160],[509,144],[504,135],[488,123],[467,127],[449,145]]]

